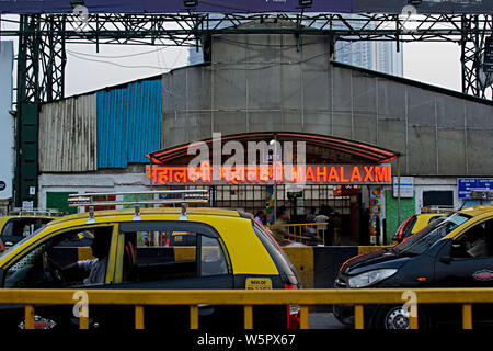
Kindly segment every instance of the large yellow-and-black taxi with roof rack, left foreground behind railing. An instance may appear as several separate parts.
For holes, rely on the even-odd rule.
[[[177,200],[176,202],[183,200]],[[148,202],[147,202],[148,203]],[[139,246],[139,238],[156,246]],[[93,257],[67,261],[64,242],[90,238]],[[80,249],[80,248],[79,248]],[[58,251],[58,252],[57,252]],[[299,288],[297,272],[251,215],[219,208],[111,210],[65,216],[0,257],[4,288]],[[146,306],[146,328],[188,327],[187,307]],[[242,308],[199,306],[200,328],[242,327]],[[297,328],[297,306],[254,307],[254,327]],[[0,324],[23,327],[20,306]],[[36,306],[35,326],[78,327],[71,306]],[[91,306],[90,328],[133,328],[124,306]]]

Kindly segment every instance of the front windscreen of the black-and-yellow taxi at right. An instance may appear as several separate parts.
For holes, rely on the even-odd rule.
[[[433,220],[428,226],[414,234],[408,240],[395,246],[393,251],[398,254],[421,254],[433,244],[470,218],[471,216],[460,213],[451,213],[444,217],[439,217]]]

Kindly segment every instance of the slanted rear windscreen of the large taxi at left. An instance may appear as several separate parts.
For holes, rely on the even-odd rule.
[[[280,247],[268,234],[268,231],[265,230],[265,228],[263,228],[255,220],[252,220],[252,224],[253,230],[255,231],[256,236],[262,241],[264,247],[267,249],[267,252],[274,260],[274,263],[276,264],[279,273],[284,276],[285,280],[287,280],[289,284],[299,285],[298,273],[296,272],[295,267],[293,265],[286,253],[280,249]]]

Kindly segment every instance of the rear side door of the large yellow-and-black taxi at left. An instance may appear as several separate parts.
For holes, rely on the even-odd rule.
[[[188,222],[131,222],[119,225],[116,288],[233,288],[233,274],[219,234]],[[140,245],[139,245],[140,244]],[[144,244],[144,245],[142,245]],[[128,306],[125,319],[134,320]],[[146,329],[169,325],[188,328],[188,306],[145,307]],[[199,306],[199,324],[229,320],[218,306]]]

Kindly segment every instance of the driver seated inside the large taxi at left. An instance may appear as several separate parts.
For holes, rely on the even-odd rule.
[[[83,233],[83,235],[92,236],[88,231]],[[78,261],[61,269],[64,275],[73,275],[78,273],[85,275],[89,273],[89,276],[83,280],[85,285],[104,284],[104,279],[106,276],[111,236],[107,235],[107,233],[96,233],[92,237],[91,251],[95,259]]]

